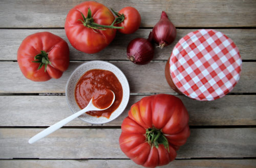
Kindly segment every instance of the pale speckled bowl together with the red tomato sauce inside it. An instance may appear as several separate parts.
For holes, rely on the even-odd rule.
[[[100,100],[103,94],[108,95],[106,90],[114,92],[114,103],[108,109],[89,111],[79,117],[92,124],[104,124],[121,115],[130,98],[129,83],[123,72],[115,65],[105,61],[90,61],[78,66],[68,79],[66,99],[71,111],[76,113],[93,97],[95,100]],[[108,99],[104,98],[100,101],[108,101]]]

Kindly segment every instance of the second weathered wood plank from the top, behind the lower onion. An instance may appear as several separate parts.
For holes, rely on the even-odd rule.
[[[241,57],[243,60],[256,60],[256,30],[255,29],[222,29],[218,31],[223,32],[230,37],[240,49]],[[16,29],[3,29],[0,30],[0,60],[17,60],[17,49],[22,43],[23,39],[27,36],[37,32],[51,32],[66,40],[65,31],[60,30],[16,30]],[[117,33],[114,41],[102,51],[95,54],[87,54],[76,50],[71,44],[70,46],[70,60],[126,60],[126,47],[129,42],[137,37],[147,38],[152,30],[139,29],[132,35],[123,35]],[[154,60],[167,60],[172,53],[176,43],[184,37],[187,33],[193,32],[195,29],[177,29],[177,38],[169,46],[163,49],[156,48]]]

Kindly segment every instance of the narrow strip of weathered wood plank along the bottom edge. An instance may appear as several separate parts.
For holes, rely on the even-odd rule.
[[[0,160],[2,167],[122,167],[122,168],[139,168],[142,167],[132,160]],[[161,166],[167,167],[183,167],[183,168],[200,168],[200,167],[233,167],[233,168],[254,168],[256,165],[256,159],[204,159],[204,160],[174,160],[167,165]]]

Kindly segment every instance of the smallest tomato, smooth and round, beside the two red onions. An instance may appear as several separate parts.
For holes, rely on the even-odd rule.
[[[123,29],[118,29],[119,32],[123,34],[132,34],[139,29],[141,17],[137,9],[133,7],[125,7],[118,13],[113,9],[111,10],[118,17],[116,21],[117,26],[123,27]]]

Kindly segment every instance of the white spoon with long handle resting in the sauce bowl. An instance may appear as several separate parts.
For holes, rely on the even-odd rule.
[[[70,121],[74,120],[75,118],[77,118],[77,117],[81,116],[82,114],[86,113],[87,111],[99,111],[99,110],[104,110],[104,109],[109,108],[115,101],[115,94],[114,94],[114,92],[112,92],[112,93],[113,93],[113,100],[112,100],[111,104],[108,107],[103,108],[103,109],[95,107],[93,105],[93,102],[92,102],[93,98],[92,98],[90,100],[89,104],[85,108],[83,108],[80,111],[78,111],[77,113],[67,117],[66,119],[63,119],[63,120],[57,122],[56,124],[46,128],[45,130],[39,132],[35,136],[31,137],[29,139],[29,144],[33,144],[34,142],[38,141],[39,139],[49,135],[50,133],[52,133],[52,132],[56,131],[57,129],[61,128],[63,125],[69,123]]]

